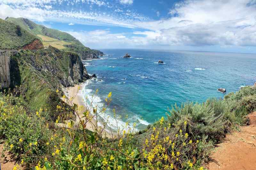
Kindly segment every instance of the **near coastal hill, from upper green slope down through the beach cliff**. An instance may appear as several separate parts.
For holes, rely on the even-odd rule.
[[[51,45],[44,48],[40,38],[24,25],[0,19],[0,35],[0,49],[18,51],[10,56],[10,86],[18,87],[20,99],[31,108],[56,109],[61,101],[56,89],[90,78],[77,53]]]

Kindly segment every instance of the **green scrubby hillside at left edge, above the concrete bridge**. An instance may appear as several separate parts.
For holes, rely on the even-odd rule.
[[[0,19],[0,49],[17,49],[37,39],[37,37],[17,25]]]

